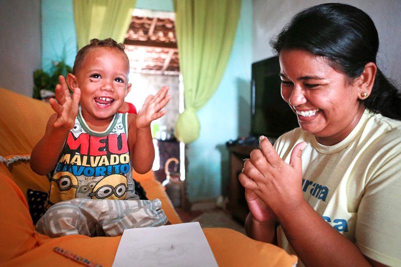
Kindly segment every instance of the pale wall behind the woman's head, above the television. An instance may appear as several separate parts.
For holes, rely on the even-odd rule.
[[[377,65],[401,86],[401,1],[399,0],[253,0],[253,62],[273,56],[270,39],[299,11],[310,6],[341,2],[366,12],[379,34]],[[399,87],[398,87],[399,88]]]

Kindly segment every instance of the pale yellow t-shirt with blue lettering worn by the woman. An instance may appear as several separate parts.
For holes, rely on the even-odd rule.
[[[338,144],[321,145],[296,128],[274,146],[289,163],[292,148],[301,141],[308,143],[302,152],[305,200],[364,255],[401,266],[401,121],[365,110]],[[281,247],[296,254],[281,226],[277,237]]]

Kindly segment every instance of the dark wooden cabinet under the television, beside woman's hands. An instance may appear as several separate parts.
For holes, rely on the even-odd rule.
[[[244,168],[244,160],[250,157],[252,150],[258,148],[258,146],[247,145],[232,145],[227,147],[230,157],[229,203],[227,208],[233,217],[243,223],[245,223],[249,209],[245,200],[245,188],[238,180],[238,176]]]

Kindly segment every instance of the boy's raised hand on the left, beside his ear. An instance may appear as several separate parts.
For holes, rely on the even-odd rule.
[[[75,125],[75,118],[78,115],[79,100],[81,90],[76,87],[71,98],[66,80],[60,76],[60,84],[56,86],[56,100],[50,99],[50,105],[57,113],[57,119],[53,123],[55,128],[70,130]]]

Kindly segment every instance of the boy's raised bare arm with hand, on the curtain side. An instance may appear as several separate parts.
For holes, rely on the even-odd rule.
[[[148,96],[138,111],[138,115],[131,115],[129,120],[128,144],[131,154],[131,163],[138,173],[146,173],[152,168],[154,147],[150,123],[162,117],[166,111],[160,111],[170,100],[167,95],[168,87],[163,86],[155,96]]]

